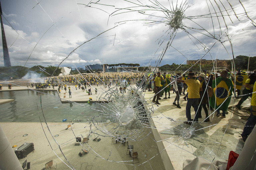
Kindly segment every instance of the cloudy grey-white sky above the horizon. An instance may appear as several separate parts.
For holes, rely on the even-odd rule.
[[[243,9],[256,21],[255,0],[241,0],[243,6],[238,0],[216,1],[220,9],[213,0],[97,1],[1,0],[12,66],[24,66],[27,60],[27,67],[61,62],[83,67],[103,60],[148,66],[155,65],[165,49],[160,65],[201,57],[230,59],[232,52],[256,56],[256,28]],[[172,17],[182,23],[166,46],[173,33],[168,25]]]

